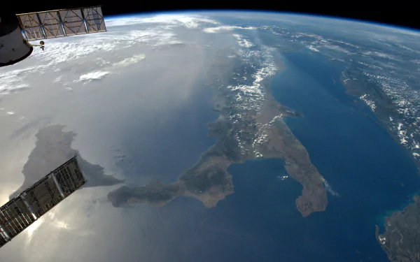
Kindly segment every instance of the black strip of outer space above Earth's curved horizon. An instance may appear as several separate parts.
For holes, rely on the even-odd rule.
[[[10,5],[12,3],[12,6]],[[235,9],[274,10],[312,15],[329,15],[420,29],[419,9],[409,1],[8,1],[3,13],[29,13],[60,8],[102,6],[104,15],[147,13],[165,10]]]

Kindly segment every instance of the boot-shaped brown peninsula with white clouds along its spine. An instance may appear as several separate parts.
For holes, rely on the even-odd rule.
[[[232,163],[276,158],[282,159],[290,177],[302,184],[297,210],[303,216],[325,210],[328,200],[323,177],[311,163],[307,150],[283,122],[283,117],[301,115],[274,100],[269,82],[275,74],[264,65],[273,64],[275,59],[268,52],[258,54],[245,59],[232,48],[216,54],[207,73],[207,85],[216,93],[213,109],[220,114],[208,125],[208,135],[216,138],[216,144],[202,154],[200,161],[173,184],[154,181],[110,192],[108,198],[114,206],[165,205],[178,196],[190,196],[206,207],[215,207],[218,201],[234,193],[232,175],[228,173]],[[265,71],[266,77],[261,78],[258,72]]]

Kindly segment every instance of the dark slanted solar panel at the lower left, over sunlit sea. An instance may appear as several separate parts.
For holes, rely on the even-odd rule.
[[[0,247],[85,182],[74,156],[0,207]]]

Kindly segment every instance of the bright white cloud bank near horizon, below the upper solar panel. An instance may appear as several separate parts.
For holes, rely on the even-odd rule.
[[[69,38],[49,39],[45,51],[36,48],[29,57],[26,68],[18,70],[0,70],[0,95],[7,95],[28,88],[28,84],[36,85],[30,77],[32,73],[49,73],[57,64],[78,63],[89,55],[112,54],[117,50],[130,48],[137,43],[146,43],[150,46],[179,45],[183,43],[172,30],[174,27],[187,29],[204,29],[206,32],[218,32],[242,27],[223,27],[220,22],[211,20],[203,15],[172,14],[153,15],[149,17],[123,17],[106,19],[109,31],[106,33],[72,36]],[[139,24],[139,28],[120,31],[118,25]],[[152,27],[150,27],[152,26]],[[218,27],[214,27],[218,26]],[[206,29],[206,27],[209,27]],[[249,28],[251,29],[251,28]],[[246,45],[247,43],[244,43]],[[120,68],[135,64],[144,59],[144,55],[124,58],[122,61],[109,61],[100,71],[92,71],[80,75],[73,82],[90,82],[99,80],[112,72],[113,68]],[[112,67],[110,67],[112,65]],[[7,68],[6,68],[7,69]],[[69,74],[67,74],[69,75]],[[62,82],[63,77],[55,75],[52,82]],[[10,88],[16,89],[15,91]],[[35,87],[35,86],[34,86]],[[19,91],[21,91],[19,90]]]

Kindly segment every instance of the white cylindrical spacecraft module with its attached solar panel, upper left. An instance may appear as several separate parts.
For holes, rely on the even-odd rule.
[[[92,34],[106,31],[101,6],[48,10],[17,14],[16,21],[1,21],[0,66],[9,66],[29,57],[34,46],[29,41]]]

